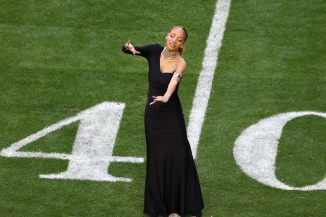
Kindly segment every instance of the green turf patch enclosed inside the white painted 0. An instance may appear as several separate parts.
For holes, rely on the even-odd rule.
[[[325,129],[325,119],[317,116],[297,118],[287,124],[276,159],[279,180],[299,187],[325,177]]]

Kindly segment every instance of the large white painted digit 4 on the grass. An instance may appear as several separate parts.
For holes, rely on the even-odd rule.
[[[108,174],[110,162],[144,162],[143,157],[112,156],[124,106],[124,103],[103,102],[90,107],[74,117],[45,127],[25,139],[13,143],[11,146],[4,148],[0,155],[69,160],[67,171],[59,174],[40,175],[40,178],[130,182],[131,179],[114,177]],[[79,120],[80,124],[71,154],[18,151],[24,145]]]

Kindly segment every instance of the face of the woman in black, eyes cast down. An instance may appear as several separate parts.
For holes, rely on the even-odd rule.
[[[169,51],[177,51],[183,46],[185,33],[181,28],[174,28],[166,35],[166,48]]]

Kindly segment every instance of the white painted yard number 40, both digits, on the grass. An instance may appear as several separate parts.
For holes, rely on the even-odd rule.
[[[114,177],[107,173],[112,161],[144,162],[142,157],[112,155],[123,110],[124,103],[103,102],[88,108],[77,116],[60,121],[15,142],[4,148],[0,155],[69,160],[67,171],[59,174],[39,175],[40,178],[130,182],[131,179],[129,178]],[[317,115],[326,118],[326,113],[284,113],[263,119],[247,128],[238,137],[234,147],[234,156],[240,168],[248,176],[271,187],[302,191],[326,190],[326,177],[315,185],[305,187],[292,187],[275,177],[275,157],[282,129],[290,120],[305,115]],[[80,121],[80,124],[71,154],[19,151],[24,145],[76,121]]]

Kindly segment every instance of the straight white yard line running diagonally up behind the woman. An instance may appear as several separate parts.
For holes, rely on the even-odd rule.
[[[188,139],[192,149],[193,157],[196,158],[205,113],[211,93],[214,72],[217,65],[218,51],[222,45],[225,23],[230,8],[230,0],[218,0],[216,2],[215,14],[212,26],[207,39],[207,46],[203,60],[203,69],[200,72],[198,83],[190,113],[189,125],[187,128]]]

